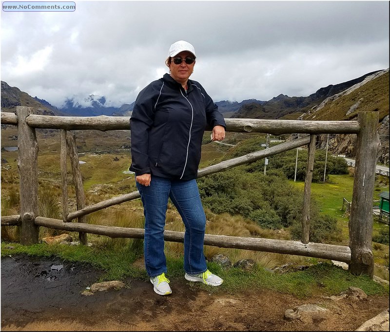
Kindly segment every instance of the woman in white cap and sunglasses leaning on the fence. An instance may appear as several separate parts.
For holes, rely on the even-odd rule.
[[[131,125],[130,170],[135,172],[145,215],[145,267],[154,291],[172,293],[164,255],[164,226],[168,198],[185,225],[185,278],[212,286],[223,280],[207,270],[203,254],[206,217],[196,184],[206,124],[212,140],[225,138],[225,120],[203,87],[189,80],[195,66],[195,49],[179,40],[165,63],[169,73],[139,92]]]

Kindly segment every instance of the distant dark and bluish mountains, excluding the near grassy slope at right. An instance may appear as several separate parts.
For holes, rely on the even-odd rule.
[[[340,93],[355,84],[358,84],[367,76],[380,71],[365,74],[361,77],[347,82],[329,85],[318,89],[316,92],[305,97],[289,97],[279,94],[271,100],[262,101],[247,99],[242,102],[221,100],[215,102],[218,110],[225,118],[254,118],[254,119],[279,119],[297,118],[315,106],[320,105],[326,98]],[[46,115],[68,115],[68,116],[131,116],[135,102],[124,104],[121,107],[106,105],[104,96],[91,94],[82,103],[73,98],[67,98],[61,109],[51,105],[45,99],[35,96],[32,98],[26,92],[21,92],[16,87],[10,87],[6,82],[1,81],[1,111],[14,111],[16,106],[33,106],[39,114]],[[292,116],[289,116],[293,114]]]

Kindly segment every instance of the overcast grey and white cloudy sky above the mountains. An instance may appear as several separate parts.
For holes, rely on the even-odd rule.
[[[389,1],[78,1],[74,12],[1,12],[1,80],[60,107],[132,103],[195,47],[214,101],[307,96],[389,67]]]

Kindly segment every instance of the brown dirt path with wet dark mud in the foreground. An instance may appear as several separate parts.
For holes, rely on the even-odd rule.
[[[388,296],[335,302],[267,290],[210,295],[191,290],[184,278],[171,279],[170,296],[155,294],[150,282],[130,278],[122,280],[129,288],[81,295],[100,274],[59,259],[1,258],[1,330],[354,331],[389,307]],[[325,318],[284,319],[287,309],[301,304],[321,304],[329,312]]]

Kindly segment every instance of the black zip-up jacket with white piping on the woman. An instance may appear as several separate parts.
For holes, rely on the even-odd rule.
[[[187,93],[169,74],[139,92],[130,118],[130,170],[172,180],[196,179],[206,123],[225,120],[211,97],[196,81]]]

